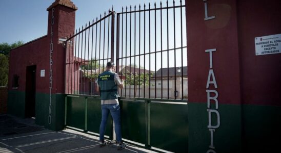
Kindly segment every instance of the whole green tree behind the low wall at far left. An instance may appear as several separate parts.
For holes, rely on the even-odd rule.
[[[0,86],[8,85],[10,50],[23,44],[23,41],[17,41],[12,44],[7,42],[0,43]]]

